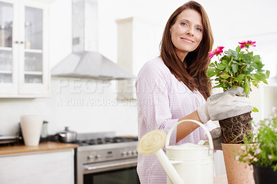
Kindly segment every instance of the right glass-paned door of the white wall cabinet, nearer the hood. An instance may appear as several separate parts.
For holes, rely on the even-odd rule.
[[[19,95],[49,93],[47,6],[39,2],[20,1],[22,4],[19,37]]]

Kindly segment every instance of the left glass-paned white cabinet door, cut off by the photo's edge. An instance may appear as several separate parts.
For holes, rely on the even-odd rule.
[[[18,88],[17,55],[14,40],[17,20],[15,1],[0,1],[0,93],[15,95]]]

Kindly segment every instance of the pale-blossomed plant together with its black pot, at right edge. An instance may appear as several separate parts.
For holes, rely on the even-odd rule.
[[[253,121],[252,121],[253,122]],[[253,165],[253,176],[256,184],[276,183],[277,181],[277,109],[265,120],[260,120],[256,131],[244,138],[240,152],[235,157],[242,163]],[[251,142],[255,142],[249,146]]]

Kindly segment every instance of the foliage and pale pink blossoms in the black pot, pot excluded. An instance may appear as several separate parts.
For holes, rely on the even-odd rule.
[[[240,154],[236,160],[249,165],[269,166],[277,169],[277,109],[272,108],[272,113],[265,120],[260,120],[255,126],[257,131],[244,137]],[[252,123],[254,123],[252,121]],[[250,144],[254,142],[254,144]]]

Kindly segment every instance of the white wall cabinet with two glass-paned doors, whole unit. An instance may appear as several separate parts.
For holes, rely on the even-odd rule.
[[[0,0],[0,98],[49,94],[48,4]]]

